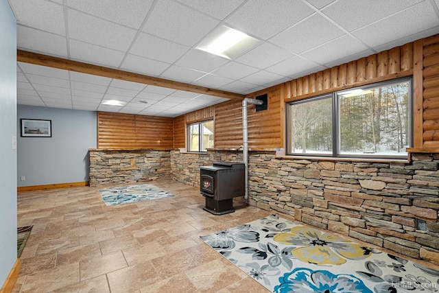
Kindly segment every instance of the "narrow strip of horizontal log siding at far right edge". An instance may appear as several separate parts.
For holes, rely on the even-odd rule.
[[[423,40],[423,147],[439,148],[439,34]]]

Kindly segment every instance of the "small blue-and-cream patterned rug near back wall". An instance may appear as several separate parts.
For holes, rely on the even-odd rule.
[[[108,206],[174,196],[174,194],[170,194],[152,184],[104,188],[99,189],[99,194],[101,194],[102,199]]]

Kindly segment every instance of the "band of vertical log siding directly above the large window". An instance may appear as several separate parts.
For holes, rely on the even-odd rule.
[[[291,82],[285,100],[303,99],[322,93],[390,80],[413,72],[413,43],[382,51],[331,69],[312,73]]]

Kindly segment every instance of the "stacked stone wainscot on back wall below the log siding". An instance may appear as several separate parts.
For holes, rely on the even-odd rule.
[[[171,178],[169,150],[89,150],[90,186]]]

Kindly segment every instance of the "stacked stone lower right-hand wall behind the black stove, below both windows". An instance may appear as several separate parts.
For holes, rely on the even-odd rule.
[[[249,204],[439,265],[439,154],[412,163],[276,158],[249,152]],[[199,167],[242,153],[171,151],[172,177],[199,185]],[[416,230],[416,219],[427,231]]]

